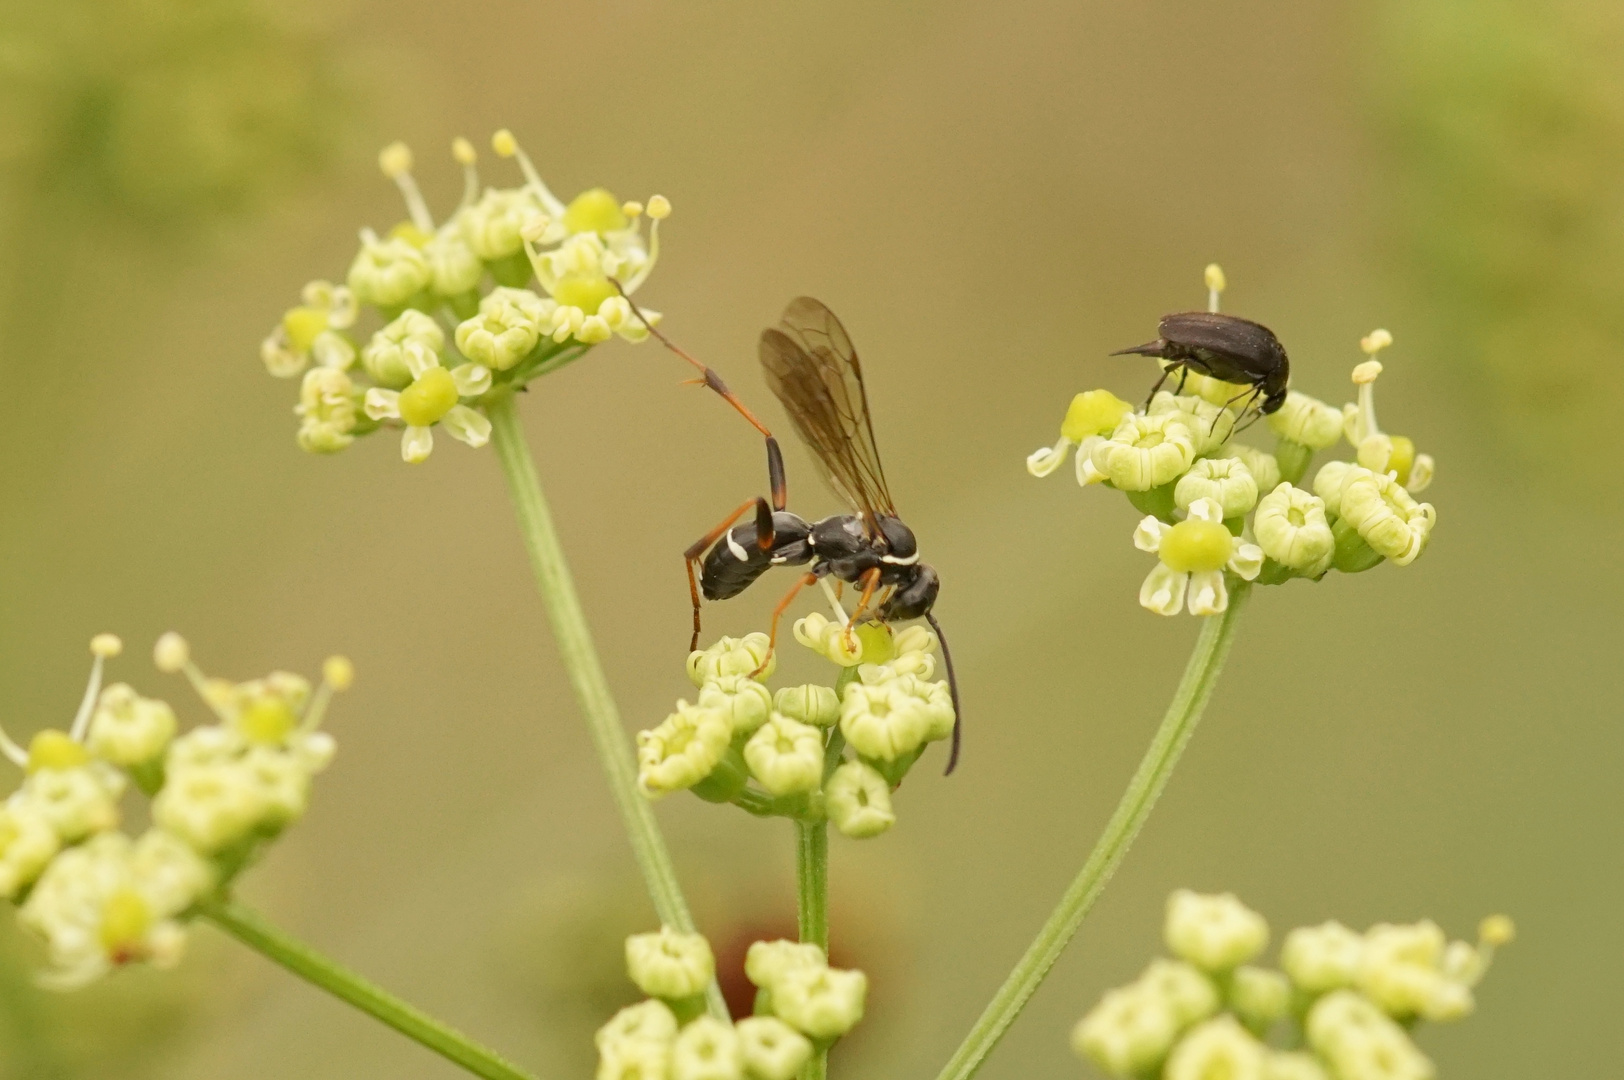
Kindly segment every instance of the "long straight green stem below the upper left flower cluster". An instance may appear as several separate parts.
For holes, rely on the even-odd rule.
[[[627,737],[625,728],[620,726],[620,713],[609,695],[609,682],[598,659],[593,633],[586,627],[586,614],[575,594],[575,581],[564,560],[559,533],[552,526],[552,512],[547,510],[547,499],[541,494],[541,481],[536,477],[536,466],[531,461],[529,447],[525,443],[525,429],[520,424],[513,395],[495,395],[486,404],[486,414],[490,417],[492,443],[502,461],[502,474],[507,477],[513,510],[518,513],[520,533],[525,536],[525,549],[529,552],[529,564],[536,573],[536,588],[547,607],[552,635],[559,642],[559,653],[570,674],[570,685],[575,687],[575,698],[580,702],[581,713],[586,715],[586,728],[598,747],[598,758],[609,776],[609,793],[614,796],[615,809],[620,810],[620,820],[632,840],[632,854],[637,858],[638,869],[643,870],[648,895],[654,901],[654,913],[663,926],[692,934],[693,916],[689,913],[687,900],[682,898],[677,870],[671,864],[666,840],[659,835],[654,810],[637,789],[632,741]],[[726,1020],[728,1004],[715,981],[705,997],[711,1015]]]

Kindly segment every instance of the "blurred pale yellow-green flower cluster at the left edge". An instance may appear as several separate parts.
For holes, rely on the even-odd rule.
[[[122,682],[102,689],[104,661],[122,648],[110,633],[91,642],[89,685],[65,731],[45,728],[28,749],[0,731],[0,754],[24,770],[0,804],[0,898],[44,942],[41,981],[58,989],[180,958],[188,909],[304,814],[312,776],[333,757],[322,713],[351,680],[343,658],[313,693],[287,672],[206,679],[169,633],[154,650],[159,669],[185,671],[218,719],[177,737],[166,702]],[[140,838],[119,832],[132,784],[151,799]]]

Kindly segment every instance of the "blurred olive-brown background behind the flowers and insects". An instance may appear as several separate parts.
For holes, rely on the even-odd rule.
[[[1108,361],[1229,273],[1296,385],[1436,455],[1410,568],[1260,593],[1138,846],[983,1075],[1083,1077],[1070,1023],[1158,950],[1181,885],[1289,926],[1432,916],[1515,947],[1442,1075],[1601,1075],[1624,1009],[1624,11],[1601,0],[1002,5],[54,5],[0,23],[0,687],[60,724],[84,643],[166,629],[205,667],[346,651],[341,755],[245,883],[274,919],[536,1067],[586,1075],[645,929],[627,846],[489,450],[294,447],[257,349],[401,216],[374,156],[512,127],[560,192],[672,198],[645,299],[773,419],[754,339],[846,320],[945,581],[966,758],[836,840],[835,952],[874,976],[840,1075],[931,1077],[1082,862],[1177,679],[1134,513],[1021,458]],[[487,159],[489,169],[494,166]],[[495,182],[510,182],[500,174]],[[754,434],[654,348],[525,403],[628,726],[690,692],[679,552],[762,487]],[[794,503],[833,510],[799,447]],[[770,591],[768,591],[770,593]],[[711,607],[763,625],[768,593]],[[1614,672],[1609,676],[1608,672]],[[929,765],[929,763],[927,763]],[[789,827],[659,807],[703,929],[793,926]],[[414,1044],[200,927],[177,973],[31,987],[0,919],[0,1077],[422,1077]]]

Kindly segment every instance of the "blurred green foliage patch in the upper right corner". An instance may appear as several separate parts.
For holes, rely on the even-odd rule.
[[[1624,406],[1624,6],[1398,0],[1379,32],[1389,227],[1431,348],[1525,450],[1611,438]]]

